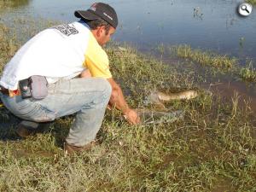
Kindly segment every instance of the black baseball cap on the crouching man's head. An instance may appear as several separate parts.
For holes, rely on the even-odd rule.
[[[96,20],[98,18],[102,18],[102,20],[106,20],[113,28],[118,26],[118,18],[115,10],[106,3],[93,3],[90,6],[90,9],[84,10],[76,10],[74,15],[78,18],[84,20]]]

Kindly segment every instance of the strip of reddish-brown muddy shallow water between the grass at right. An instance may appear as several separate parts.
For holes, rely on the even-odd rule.
[[[196,72],[193,81],[201,89],[211,91],[214,95],[223,96],[227,102],[232,102],[237,96],[238,106],[241,108],[244,108],[246,105],[249,106],[256,116],[256,83],[242,81],[230,74],[212,75],[207,72],[209,68],[206,69],[206,67],[196,63],[192,66],[187,66],[187,64],[184,64],[187,61],[183,63],[183,60],[180,58],[174,57],[170,60],[168,55],[162,55],[161,59],[166,63],[176,65],[180,73]],[[204,79],[204,82],[201,82],[201,78]]]

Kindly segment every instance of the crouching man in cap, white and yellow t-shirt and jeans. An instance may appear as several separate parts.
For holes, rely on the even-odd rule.
[[[6,65],[0,80],[3,104],[21,121],[17,133],[37,129],[39,122],[77,113],[66,138],[67,153],[90,148],[108,103],[131,125],[140,119],[129,108],[109,70],[102,49],[118,26],[106,3],[75,11],[80,20],[39,32]],[[79,77],[79,78],[78,78]]]

